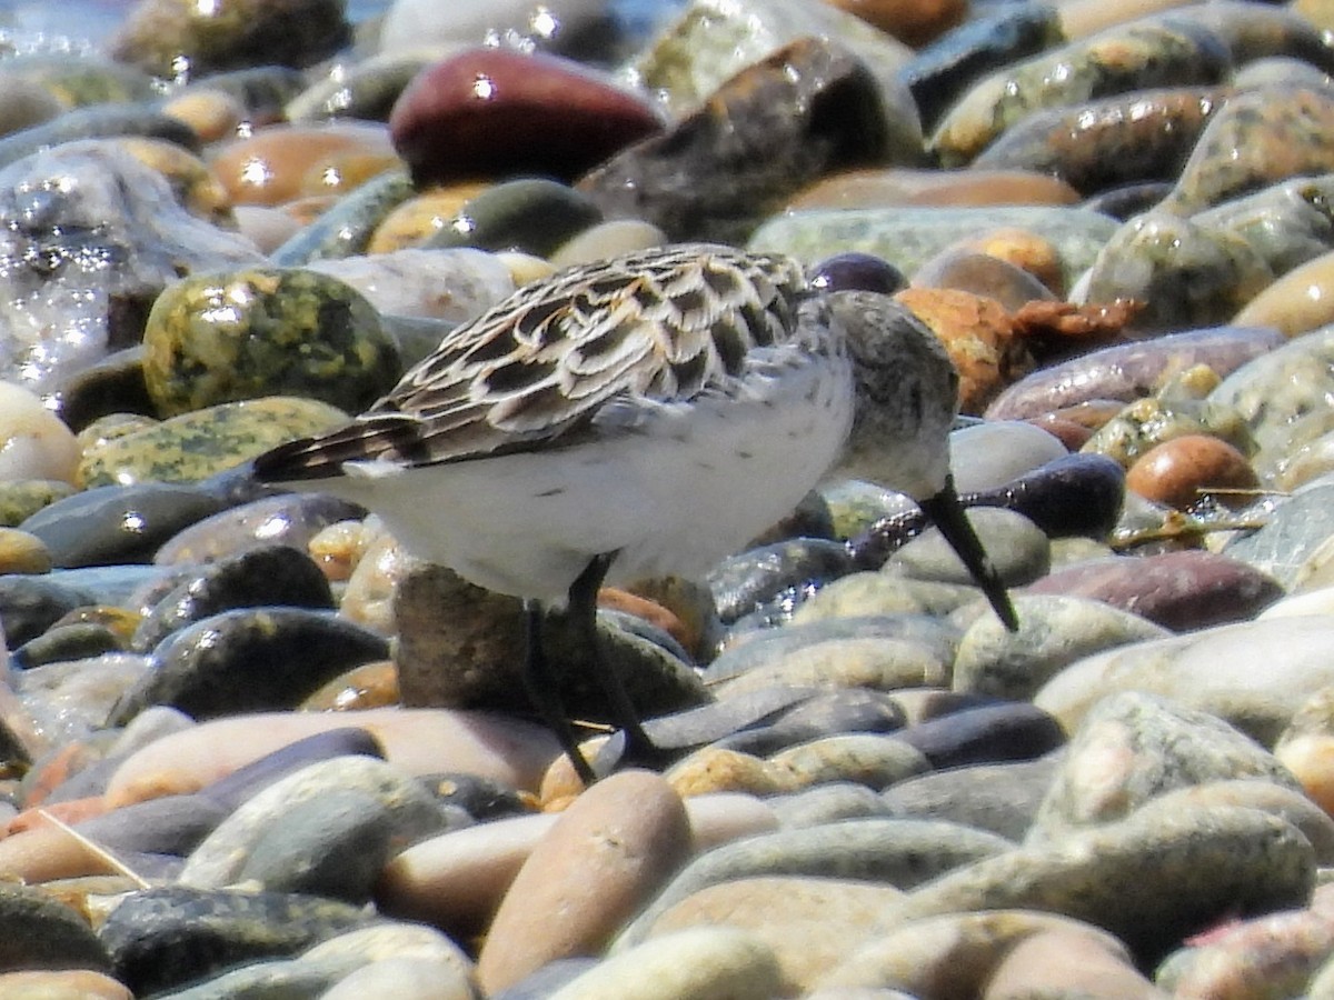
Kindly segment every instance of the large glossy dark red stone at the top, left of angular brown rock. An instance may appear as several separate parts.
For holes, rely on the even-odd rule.
[[[476,48],[427,67],[394,113],[394,145],[418,184],[538,175],[572,180],[660,132],[644,97],[579,63]]]

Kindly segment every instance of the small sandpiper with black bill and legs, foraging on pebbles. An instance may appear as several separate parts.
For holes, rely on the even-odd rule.
[[[702,576],[788,513],[854,424],[858,451],[896,443],[876,467],[884,485],[931,507],[1014,623],[950,484],[954,368],[924,329],[906,351],[850,335],[876,299],[831,292],[782,255],[710,244],[568,268],[454,329],[346,427],[253,471],[358,501],[419,557],[523,597],[530,696],[591,781],[544,676],[540,608],[568,601],[627,753],[651,755],[600,655],[598,588]],[[855,415],[859,393],[894,404],[875,427]]]

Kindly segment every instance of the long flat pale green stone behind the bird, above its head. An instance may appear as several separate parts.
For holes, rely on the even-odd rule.
[[[960,240],[1011,228],[1037,233],[1057,247],[1063,280],[1073,284],[1111,239],[1117,221],[1082,208],[1043,205],[807,209],[771,217],[747,245],[800,260],[860,251],[911,275]]]

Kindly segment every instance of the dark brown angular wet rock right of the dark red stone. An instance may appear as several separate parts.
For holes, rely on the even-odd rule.
[[[736,243],[823,173],[915,156],[890,145],[871,71],[835,44],[803,39],[738,73],[664,135],[612,157],[579,189],[608,217],[643,219],[674,240]]]

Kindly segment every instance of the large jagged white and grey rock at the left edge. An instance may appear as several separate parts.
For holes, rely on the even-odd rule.
[[[185,212],[167,181],[119,147],[67,143],[0,172],[3,371],[37,389],[111,348],[116,300],[147,305],[183,275],[255,263],[248,240]],[[20,221],[21,220],[21,221]]]

